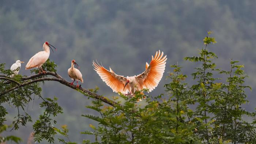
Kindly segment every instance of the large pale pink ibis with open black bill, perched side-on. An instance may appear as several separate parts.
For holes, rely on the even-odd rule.
[[[56,50],[56,48],[53,45],[51,45],[49,42],[45,42],[43,44],[44,51],[38,52],[33,57],[31,57],[29,62],[27,62],[26,69],[38,67],[39,73],[41,73],[40,70],[42,70],[42,73],[45,74],[45,71],[43,70],[42,65],[46,62],[46,60],[50,56],[50,48],[52,49],[51,46]],[[52,52],[53,52],[53,49],[52,49]]]

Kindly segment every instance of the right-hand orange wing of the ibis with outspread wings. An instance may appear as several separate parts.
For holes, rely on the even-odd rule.
[[[146,63],[146,70],[136,76],[136,79],[143,82],[143,88],[149,88],[149,91],[154,90],[158,83],[163,77],[163,72],[165,72],[166,55],[163,57],[163,52],[160,50],[152,56],[150,64]]]

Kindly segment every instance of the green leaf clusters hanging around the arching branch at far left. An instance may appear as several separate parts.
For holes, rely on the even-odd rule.
[[[42,65],[44,69],[52,72],[56,72],[56,66],[57,65],[49,59]],[[13,74],[13,71],[4,69],[4,64],[0,64],[0,72],[3,74],[0,77],[0,126],[4,126],[4,121],[6,120],[5,117],[6,114],[8,114],[7,109],[1,106],[4,103],[9,103],[18,110],[18,114],[14,117],[12,122],[13,127],[11,130],[18,130],[20,125],[26,126],[27,122],[33,122],[30,114],[25,110],[25,107],[32,101],[32,99],[34,99],[32,96],[37,95],[39,99],[42,99],[43,102],[40,104],[40,107],[45,107],[45,111],[43,114],[39,115],[39,120],[35,121],[33,125],[35,141],[40,142],[42,139],[46,139],[49,143],[54,142],[53,137],[56,132],[53,129],[52,124],[56,124],[57,121],[53,120],[51,116],[55,117],[57,114],[63,113],[62,108],[56,102],[57,98],[44,99],[41,96],[42,88],[39,82],[31,83],[5,93],[6,90],[19,86],[22,83],[30,82],[31,80],[34,80],[34,78],[27,80],[26,76],[21,75],[16,75],[11,78],[9,76]],[[33,69],[31,70],[31,73],[32,72],[38,73],[38,69]],[[40,76],[39,78],[42,77],[46,76]]]

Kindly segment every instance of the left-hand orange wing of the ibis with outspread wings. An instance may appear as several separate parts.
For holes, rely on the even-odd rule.
[[[112,88],[114,92],[121,92],[125,94],[128,91],[128,87],[125,87],[124,84],[126,83],[127,79],[124,76],[119,76],[116,73],[112,71],[111,68],[110,71],[105,69],[102,65],[99,65],[93,61],[93,67],[94,70],[99,74],[101,79]]]

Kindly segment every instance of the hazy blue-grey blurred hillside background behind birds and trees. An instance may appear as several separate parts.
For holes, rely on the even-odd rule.
[[[119,75],[133,76],[144,71],[145,63],[157,50],[167,54],[165,76],[172,69],[170,64],[183,67],[190,75],[195,64],[185,62],[185,56],[193,56],[203,47],[203,38],[211,30],[218,43],[209,49],[218,55],[217,68],[229,70],[229,60],[245,65],[249,79],[246,84],[249,105],[256,107],[256,1],[253,0],[1,0],[0,1],[0,63],[10,68],[16,60],[25,61],[20,74],[30,75],[25,65],[48,41],[58,51],[50,54],[57,73],[69,80],[67,69],[75,59],[83,74],[84,88],[100,88],[99,94],[111,98],[116,95],[93,70],[92,61],[97,59]],[[189,76],[190,77],[190,76]],[[191,78],[188,78],[191,79]],[[165,77],[151,93],[165,93]],[[79,92],[57,82],[46,82],[42,96],[59,98],[64,114],[58,115],[56,127],[67,124],[71,141],[92,139],[80,132],[91,130],[93,121],[81,114],[94,111]],[[35,98],[29,103],[28,113],[35,121],[43,109]],[[143,102],[142,102],[143,104]],[[15,108],[8,109],[15,113]],[[13,115],[9,114],[6,124]],[[24,141],[33,132],[32,124],[8,134],[22,137]],[[56,143],[58,140],[56,139]]]

